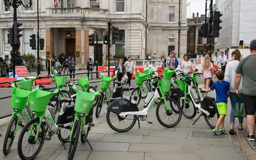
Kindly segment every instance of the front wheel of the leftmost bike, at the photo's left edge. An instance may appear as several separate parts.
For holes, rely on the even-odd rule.
[[[13,115],[11,122],[9,123],[7,127],[7,131],[5,133],[5,138],[4,138],[4,145],[3,145],[3,154],[7,155],[12,147],[12,143],[14,141],[15,135],[15,129],[18,123],[18,116],[15,114]]]

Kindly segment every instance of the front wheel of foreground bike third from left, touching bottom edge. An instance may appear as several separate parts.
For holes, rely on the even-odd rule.
[[[73,134],[69,144],[68,155],[67,155],[67,159],[69,160],[72,160],[75,155],[75,150],[77,147],[79,134],[80,134],[80,126],[81,126],[81,119],[79,118],[74,124]]]

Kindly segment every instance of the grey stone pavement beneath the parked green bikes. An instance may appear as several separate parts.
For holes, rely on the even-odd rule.
[[[215,97],[215,92],[209,96]],[[126,96],[127,97],[127,93]],[[141,101],[141,106],[142,105]],[[88,140],[94,150],[90,150],[87,143],[79,142],[74,159],[187,159],[190,160],[211,160],[211,159],[250,159],[238,142],[237,135],[222,134],[213,135],[210,127],[206,124],[204,117],[192,125],[197,116],[193,119],[182,117],[181,122],[174,128],[167,129],[160,125],[156,118],[156,107],[149,111],[148,119],[153,124],[145,121],[138,129],[136,123],[134,128],[125,133],[113,131],[106,122],[106,105],[102,109],[99,118],[94,115],[94,128],[91,129]],[[143,107],[139,107],[143,109]],[[228,116],[225,121],[226,129],[229,129],[229,102]],[[2,150],[4,135],[10,118],[0,120],[0,150]],[[236,126],[237,124],[235,124]],[[9,155],[0,154],[0,159],[20,159],[17,154],[17,141],[21,129],[18,130]],[[196,137],[196,138],[195,138]],[[69,143],[65,144],[68,149]],[[40,154],[35,159],[67,159],[68,150],[64,150],[56,135],[51,141],[44,141]]]

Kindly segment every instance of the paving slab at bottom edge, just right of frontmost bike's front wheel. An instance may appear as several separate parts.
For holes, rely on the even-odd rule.
[[[144,153],[92,151],[87,160],[144,160]]]

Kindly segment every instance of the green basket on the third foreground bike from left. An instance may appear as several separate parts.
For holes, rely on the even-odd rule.
[[[77,90],[75,99],[75,111],[78,113],[83,111],[84,115],[88,114],[94,99],[94,94]]]

